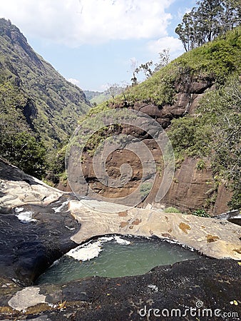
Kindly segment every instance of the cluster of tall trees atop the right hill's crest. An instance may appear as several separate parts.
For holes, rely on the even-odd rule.
[[[185,51],[212,41],[241,22],[240,0],[201,0],[197,5],[175,29]]]

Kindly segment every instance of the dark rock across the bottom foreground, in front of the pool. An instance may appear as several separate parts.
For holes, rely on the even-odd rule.
[[[90,277],[24,290],[0,280],[4,319],[240,320],[240,266],[233,260],[201,258],[135,277]]]

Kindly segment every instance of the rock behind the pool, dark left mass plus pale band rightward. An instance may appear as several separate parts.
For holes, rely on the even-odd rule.
[[[0,273],[21,284],[30,285],[54,260],[96,235],[158,236],[213,258],[241,259],[240,227],[227,221],[76,200],[4,161],[0,175]]]

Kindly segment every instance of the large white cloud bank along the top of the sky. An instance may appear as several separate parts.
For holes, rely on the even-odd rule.
[[[1,16],[24,34],[67,46],[166,36],[174,0],[8,0]]]

